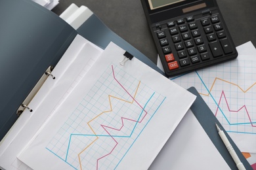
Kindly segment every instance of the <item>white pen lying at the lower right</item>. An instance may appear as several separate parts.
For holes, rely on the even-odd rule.
[[[244,170],[245,167],[244,167],[243,163],[238,158],[238,155],[236,154],[234,148],[228,141],[228,138],[226,137],[224,131],[217,124],[216,124],[216,127],[217,127],[217,131],[218,131],[221,139],[223,140],[223,143],[225,144],[226,148],[228,149],[228,152],[230,153],[231,157],[233,158],[234,162],[236,163],[236,167],[238,167],[239,170]]]

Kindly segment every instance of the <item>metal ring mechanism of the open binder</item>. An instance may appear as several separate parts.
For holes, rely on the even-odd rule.
[[[28,107],[30,104],[30,101],[32,101],[33,97],[35,97],[36,93],[39,91],[41,86],[43,86],[43,83],[49,76],[51,76],[53,79],[55,79],[55,76],[51,73],[53,71],[53,66],[49,66],[48,69],[43,73],[37,84],[35,84],[35,87],[32,89],[32,91],[28,94],[28,97],[22,102],[20,107],[18,107],[18,110],[16,111],[17,116],[20,116],[22,112],[24,112],[25,109],[30,110],[30,112],[33,112],[33,109]]]

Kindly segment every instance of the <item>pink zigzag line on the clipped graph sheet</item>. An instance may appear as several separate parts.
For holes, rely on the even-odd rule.
[[[137,100],[136,100],[136,99],[123,87],[123,85],[116,79],[116,76],[115,76],[115,73],[114,73],[114,67],[113,67],[113,65],[112,65],[112,73],[113,73],[114,80],[116,80],[116,82],[121,86],[121,88],[123,88],[123,90],[125,90],[125,92],[126,92],[127,94],[129,94],[130,97],[133,98],[133,100],[139,105],[139,107],[140,107],[141,109],[143,109],[143,107],[137,102]],[[144,109],[143,109],[143,110],[144,110]],[[146,112],[146,110],[144,110],[144,112]],[[146,112],[146,114],[148,114],[148,112]],[[121,117],[122,126],[120,127],[120,129],[117,129],[117,128],[114,128],[114,127],[110,127],[110,126],[104,126],[104,125],[100,125],[100,126],[102,126],[102,128],[106,131],[106,133],[108,133],[108,135],[110,135],[109,131],[107,131],[105,127],[110,128],[110,129],[114,129],[114,130],[117,130],[117,131],[120,131],[120,130],[123,128],[123,126],[124,126],[124,124],[123,124],[123,120],[124,120],[124,119],[130,120],[130,121],[133,121],[133,122],[141,123],[142,120],[144,120],[146,114],[142,117],[142,119],[140,120],[140,122],[138,122],[137,120],[130,119],[130,118]],[[118,144],[117,141],[116,141],[116,139],[114,139],[114,137],[112,137],[112,135],[110,135],[110,137],[115,141],[116,144],[115,144],[114,148],[112,148],[112,150],[111,150],[108,154],[106,154],[106,155],[104,155],[104,156],[102,156],[102,157],[100,157],[100,158],[97,159],[96,169],[98,169],[98,161],[100,161],[102,158],[105,158],[106,156],[112,154],[113,150],[116,148],[116,146],[117,146],[117,144]]]

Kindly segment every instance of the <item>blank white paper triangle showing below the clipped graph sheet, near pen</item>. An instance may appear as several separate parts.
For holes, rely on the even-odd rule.
[[[230,169],[192,110],[188,110],[149,170]]]

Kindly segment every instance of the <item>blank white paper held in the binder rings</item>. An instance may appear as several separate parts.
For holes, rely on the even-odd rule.
[[[53,75],[56,79],[49,77],[30,103],[29,107],[33,112],[25,110],[12,126],[5,140],[1,141],[0,167],[2,169],[29,169],[16,158],[17,154],[51,116],[51,111],[72,92],[101,52],[100,48],[77,35],[54,68]]]

